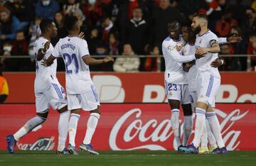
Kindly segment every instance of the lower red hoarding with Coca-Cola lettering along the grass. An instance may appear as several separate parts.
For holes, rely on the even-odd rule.
[[[216,108],[228,150],[256,150],[256,105],[217,104]],[[0,150],[5,150],[5,136],[14,133],[29,118],[35,116],[35,105],[2,104],[0,110]],[[97,150],[176,148],[168,104],[102,104],[101,111],[102,116],[92,138],[92,145]],[[83,111],[78,123],[77,146],[85,136],[87,118],[88,113]],[[183,117],[181,124],[183,125]],[[17,148],[55,150],[57,143],[58,113],[51,110],[46,123],[19,140]]]

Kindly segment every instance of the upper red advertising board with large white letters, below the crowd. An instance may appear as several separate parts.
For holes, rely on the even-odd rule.
[[[10,94],[7,103],[34,103],[34,73],[4,73]],[[256,103],[256,72],[222,72],[216,102]],[[58,73],[65,87],[65,73]],[[102,103],[164,103],[164,73],[92,73]]]

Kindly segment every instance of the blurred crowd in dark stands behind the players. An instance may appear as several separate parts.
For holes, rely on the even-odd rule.
[[[77,16],[91,55],[120,55],[112,65],[92,71],[156,71],[164,60],[161,42],[168,35],[167,24],[191,24],[196,12],[206,13],[209,28],[219,37],[242,36],[242,43],[221,45],[226,65],[220,70],[247,70],[247,57],[256,55],[256,0],[0,0],[0,65],[4,71],[33,71],[33,44],[41,34],[43,18],[55,21],[59,38],[65,37],[65,17]],[[6,58],[18,55],[21,58]],[[31,55],[31,58],[22,58]],[[127,57],[131,58],[127,58]],[[256,70],[256,57],[250,57]],[[58,70],[65,70],[58,60]]]

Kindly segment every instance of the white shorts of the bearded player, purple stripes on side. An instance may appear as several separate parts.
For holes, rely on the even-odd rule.
[[[215,96],[220,88],[220,78],[208,72],[198,74],[198,100],[215,107]]]

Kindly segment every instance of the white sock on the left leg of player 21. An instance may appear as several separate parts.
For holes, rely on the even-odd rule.
[[[74,147],[75,147],[75,134],[78,128],[79,118],[80,118],[79,114],[70,115],[69,128],[68,128],[69,143]]]

